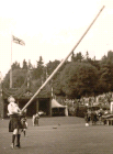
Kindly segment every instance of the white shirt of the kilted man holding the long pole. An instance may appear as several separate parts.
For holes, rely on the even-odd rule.
[[[10,102],[8,105],[8,111],[9,111],[9,114],[19,113],[20,108],[18,107],[18,105],[15,102]]]

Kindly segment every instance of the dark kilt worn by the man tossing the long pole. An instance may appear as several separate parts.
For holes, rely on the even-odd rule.
[[[9,132],[13,132],[14,129],[23,129],[20,116],[18,114],[10,116]]]

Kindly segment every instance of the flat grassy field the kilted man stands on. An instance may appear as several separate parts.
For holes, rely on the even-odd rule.
[[[9,120],[0,120],[0,154],[113,154],[113,127],[86,127],[76,117],[41,118],[39,127],[27,119],[27,138],[21,135],[20,150],[11,150]]]

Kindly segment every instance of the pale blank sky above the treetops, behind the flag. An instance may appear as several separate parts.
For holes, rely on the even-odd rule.
[[[33,66],[39,56],[46,65],[61,61],[72,50],[92,20],[105,6],[90,31],[75,50],[97,59],[113,51],[113,0],[3,0],[0,2],[0,72],[15,61]],[[25,46],[11,42],[12,35]],[[11,56],[12,53],[12,56]]]

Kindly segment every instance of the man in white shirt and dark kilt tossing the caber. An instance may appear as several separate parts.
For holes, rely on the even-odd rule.
[[[9,122],[9,132],[13,132],[12,134],[12,144],[11,148],[14,148],[14,141],[16,136],[16,145],[15,147],[20,148],[20,138],[21,138],[21,109],[15,103],[15,99],[11,96],[8,98],[9,105],[8,105],[8,116],[10,116],[10,122]]]

